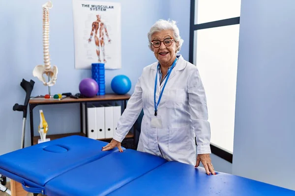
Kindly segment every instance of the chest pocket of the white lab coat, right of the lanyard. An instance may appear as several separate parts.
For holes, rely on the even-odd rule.
[[[167,108],[180,108],[183,105],[185,98],[185,91],[183,89],[167,89],[165,95],[165,105]]]

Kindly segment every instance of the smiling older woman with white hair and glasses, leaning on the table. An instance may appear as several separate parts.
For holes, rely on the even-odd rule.
[[[143,69],[112,141],[102,150],[122,152],[121,141],[143,109],[137,150],[195,167],[201,161],[208,175],[215,174],[205,90],[196,66],[177,54],[183,40],[176,23],[157,21],[148,41],[158,61]]]

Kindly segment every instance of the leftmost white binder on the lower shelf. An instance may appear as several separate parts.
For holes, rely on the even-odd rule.
[[[88,137],[91,139],[96,139],[96,111],[95,106],[92,104],[87,104],[87,120],[88,120]]]

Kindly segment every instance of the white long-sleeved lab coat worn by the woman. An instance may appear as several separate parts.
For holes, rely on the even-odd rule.
[[[172,70],[162,98],[157,116],[162,128],[150,126],[154,118],[154,85],[158,74],[155,62],[143,69],[134,93],[129,99],[113,139],[121,142],[137,120],[142,108],[144,117],[137,150],[191,165],[196,164],[196,154],[211,153],[210,125],[207,121],[207,100],[200,74],[195,65],[177,55],[176,66]],[[157,76],[156,102],[160,85]],[[197,149],[196,142],[197,141]]]

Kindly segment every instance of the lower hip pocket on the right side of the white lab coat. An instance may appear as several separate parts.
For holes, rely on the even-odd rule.
[[[190,148],[190,125],[169,128],[169,150],[181,152]]]

